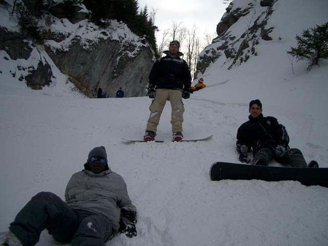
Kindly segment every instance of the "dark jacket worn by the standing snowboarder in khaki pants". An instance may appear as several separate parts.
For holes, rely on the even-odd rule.
[[[180,58],[181,52],[171,57],[169,51],[166,56],[156,60],[150,74],[149,85],[156,89],[184,89],[191,87],[191,75],[187,62]]]

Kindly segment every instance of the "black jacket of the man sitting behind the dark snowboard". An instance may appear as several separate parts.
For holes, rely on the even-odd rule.
[[[278,123],[275,117],[263,117],[262,114],[257,118],[249,116],[249,121],[244,122],[237,131],[237,151],[240,146],[245,145],[249,151],[253,149],[253,154],[261,148],[275,148],[282,145],[289,148],[289,136],[285,127]]]

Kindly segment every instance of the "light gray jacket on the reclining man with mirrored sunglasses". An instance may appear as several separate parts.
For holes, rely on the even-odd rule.
[[[124,179],[110,169],[101,173],[88,170],[74,173],[67,184],[65,200],[72,209],[103,214],[118,230],[120,210],[136,212]]]

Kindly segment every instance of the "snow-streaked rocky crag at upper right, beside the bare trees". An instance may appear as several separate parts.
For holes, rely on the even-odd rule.
[[[232,2],[217,25],[218,36],[199,55],[195,77],[199,73],[203,74],[217,59],[221,59],[222,66],[232,69],[247,62],[251,56],[256,56],[260,40],[272,40],[270,33],[273,27],[268,27],[268,19],[277,1],[245,0],[238,2],[238,6]],[[240,22],[239,28],[231,30],[237,22]],[[244,28],[241,29],[241,26]]]

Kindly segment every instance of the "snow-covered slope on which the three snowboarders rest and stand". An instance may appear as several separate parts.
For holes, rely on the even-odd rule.
[[[303,28],[326,21],[322,9],[328,4],[298,2],[278,1],[271,22],[280,31],[274,41],[259,44],[259,56],[230,71],[213,64],[203,74],[204,83],[213,87],[183,100],[185,138],[214,134],[206,142],[123,142],[121,137],[144,134],[148,97],[84,98],[71,93],[59,75],[55,86],[42,91],[2,79],[0,231],[37,192],[64,199],[70,176],[83,169],[93,147],[103,145],[138,209],[138,236],[118,235],[106,245],[328,245],[327,188],[209,178],[214,161],[238,161],[236,132],[255,98],[262,101],[264,115],[286,126],[291,147],[328,168],[328,63],[310,72],[305,62],[294,64],[293,75],[285,53]],[[287,8],[297,19],[288,23],[290,28],[285,27]],[[171,137],[170,114],[168,104],[158,139]],[[44,232],[37,245],[61,244]]]

